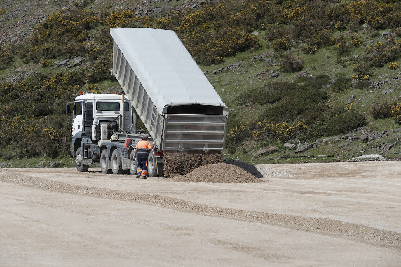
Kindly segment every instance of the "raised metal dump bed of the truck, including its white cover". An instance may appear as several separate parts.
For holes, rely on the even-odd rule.
[[[111,28],[112,73],[160,150],[222,151],[228,108],[175,32]]]

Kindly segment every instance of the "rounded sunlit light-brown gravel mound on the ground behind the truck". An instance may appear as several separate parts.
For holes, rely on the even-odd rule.
[[[214,163],[194,169],[184,176],[174,176],[176,182],[206,182],[206,183],[261,183],[263,180],[256,178],[247,171],[232,164]]]

